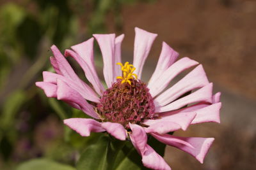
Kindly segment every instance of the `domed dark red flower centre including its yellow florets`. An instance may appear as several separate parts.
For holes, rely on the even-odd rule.
[[[121,63],[118,65],[123,75],[116,77],[117,81],[104,92],[97,104],[97,113],[102,121],[116,122],[129,128],[129,122],[140,124],[145,119],[154,118],[153,98],[146,84],[135,79],[135,67],[129,62],[125,62],[124,66]]]

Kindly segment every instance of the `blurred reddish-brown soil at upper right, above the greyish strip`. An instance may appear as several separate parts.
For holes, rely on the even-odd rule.
[[[210,81],[256,99],[256,1],[161,0],[126,6],[123,15],[123,51],[133,51],[134,27],[157,33],[148,62],[165,41],[202,63]]]

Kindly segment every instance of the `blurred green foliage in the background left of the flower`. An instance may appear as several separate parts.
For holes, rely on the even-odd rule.
[[[95,32],[107,32],[109,13],[116,31],[122,31],[122,8],[138,1],[0,3],[0,169],[13,169],[38,157],[47,159],[30,160],[18,169],[45,169],[43,164],[49,165],[47,169],[72,169],[54,160],[75,166],[85,146],[102,139],[102,134],[82,138],[65,127],[64,118],[86,116],[56,99],[47,99],[35,81],[42,80],[43,70],[51,70],[52,44],[63,50]]]

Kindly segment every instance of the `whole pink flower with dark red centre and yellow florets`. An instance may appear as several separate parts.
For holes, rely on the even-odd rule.
[[[145,167],[171,169],[147,144],[147,135],[188,152],[203,163],[214,138],[185,138],[168,132],[186,131],[191,124],[220,123],[220,92],[212,95],[212,83],[207,80],[201,64],[188,57],[177,60],[179,53],[164,42],[154,74],[147,85],[143,83],[141,72],[157,34],[137,27],[135,32],[133,65],[120,63],[124,34],[118,37],[115,34],[93,35],[102,52],[108,89],[104,89],[95,71],[93,38],[65,51],[65,57],[73,57],[82,67],[91,85],[77,76],[53,45],[51,64],[56,73],[44,71],[44,81],[36,82],[36,86],[43,89],[47,97],[63,100],[92,117],[64,120],[64,124],[81,136],[106,131],[116,139],[130,138]],[[196,67],[190,73],[168,87],[177,74],[193,66]],[[182,97],[191,90],[195,92]],[[182,108],[188,104],[190,106]]]

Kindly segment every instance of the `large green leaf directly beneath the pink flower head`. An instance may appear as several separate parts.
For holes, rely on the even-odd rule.
[[[148,145],[152,146],[159,155],[164,155],[165,146],[154,138],[148,138]],[[102,136],[97,143],[87,146],[77,162],[78,170],[95,169],[148,169],[141,162],[141,156],[130,141]]]

